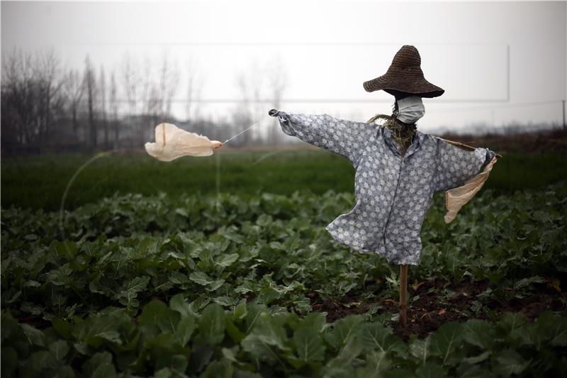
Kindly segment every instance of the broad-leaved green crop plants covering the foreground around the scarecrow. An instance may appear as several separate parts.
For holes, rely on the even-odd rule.
[[[398,271],[324,230],[352,194],[116,194],[63,218],[2,209],[2,373],[561,376],[564,313],[529,323],[488,304],[547,285],[567,305],[566,198],[566,182],[483,191],[446,225],[434,197],[410,277],[490,282],[463,308],[490,321],[445,323],[407,343],[391,328],[397,314],[373,303],[397,299]],[[327,323],[324,301],[359,314]]]

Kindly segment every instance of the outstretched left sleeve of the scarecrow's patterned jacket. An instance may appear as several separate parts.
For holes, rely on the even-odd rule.
[[[347,121],[328,114],[279,112],[281,130],[306,143],[347,157],[357,165],[364,146],[376,132],[374,123]]]

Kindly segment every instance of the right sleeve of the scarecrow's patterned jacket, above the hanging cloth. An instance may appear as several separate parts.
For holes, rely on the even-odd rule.
[[[474,177],[492,157],[488,148],[465,150],[440,138],[437,139],[437,174],[435,191],[448,190],[463,185]]]

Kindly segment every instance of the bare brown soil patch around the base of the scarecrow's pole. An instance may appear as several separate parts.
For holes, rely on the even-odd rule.
[[[522,299],[512,298],[508,301],[500,301],[491,295],[488,301],[483,303],[483,309],[474,313],[471,310],[471,302],[476,300],[476,295],[488,288],[490,288],[488,279],[459,284],[434,279],[424,282],[417,287],[417,290],[408,285],[408,299],[414,296],[419,296],[419,299],[411,303],[408,302],[406,326],[404,328],[399,321],[392,321],[388,326],[392,327],[395,335],[408,342],[412,333],[417,335],[418,338],[425,338],[449,321],[464,322],[469,318],[490,320],[487,313],[483,311],[484,308],[494,311],[498,316],[503,315],[506,311],[519,312],[524,315],[528,322],[534,321],[546,310],[567,311],[566,306],[561,301],[561,296],[565,296],[566,293],[560,294],[546,284],[536,284],[534,292]],[[443,289],[453,291],[454,295],[444,301],[439,300],[446,298],[439,296],[439,292]],[[510,288],[510,290],[512,289]],[[376,315],[386,311],[399,313],[399,302],[393,299],[361,301],[356,297],[345,296],[340,301],[322,300],[315,291],[310,292],[308,297],[311,299],[313,311],[327,312],[328,323],[333,323],[348,315],[366,313],[371,306],[381,306]],[[361,304],[359,306],[345,306],[345,304],[352,304],[353,302],[361,302]]]

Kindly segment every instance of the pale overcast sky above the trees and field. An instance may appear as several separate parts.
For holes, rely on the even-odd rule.
[[[263,80],[269,96],[267,78],[281,72],[282,110],[366,121],[390,113],[393,97],[362,83],[386,73],[402,45],[415,45],[425,78],[445,89],[424,99],[418,125],[464,130],[562,121],[566,19],[566,1],[2,1],[1,52],[53,47],[68,67],[82,69],[89,54],[117,74],[125,52],[140,65],[167,55],[182,72],[180,117],[189,65],[202,82],[201,111],[213,117],[242,99],[240,74]]]

